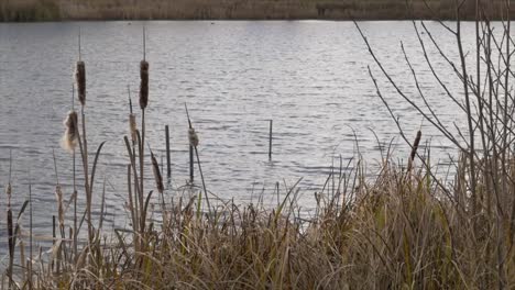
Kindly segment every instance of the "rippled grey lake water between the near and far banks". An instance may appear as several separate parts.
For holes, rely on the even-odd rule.
[[[456,55],[453,36],[438,23],[427,25],[443,49],[451,57]],[[464,23],[465,36],[472,36],[472,25]],[[371,131],[386,145],[393,137],[398,140],[398,130],[376,96],[369,65],[409,138],[421,126],[423,142],[431,142],[434,163],[456,154],[449,142],[428,122],[423,122],[387,85],[352,22],[0,24],[0,186],[4,188],[8,182],[12,150],[14,210],[20,209],[32,182],[37,234],[52,233],[52,214],[56,213],[53,149],[66,200],[72,192],[72,157],[59,147],[59,138],[64,133],[63,120],[72,105],[79,27],[87,70],[89,150],[95,152],[99,143],[107,141],[96,178],[96,215],[106,180],[108,219],[123,221],[127,86],[138,104],[134,97],[139,88],[143,26],[147,31],[150,62],[147,137],[158,159],[164,156],[164,125],[171,126],[173,172],[167,194],[177,194],[174,189],[188,179],[184,103],[188,104],[200,137],[199,155],[207,188],[223,199],[249,203],[263,194],[265,203],[274,204],[276,182],[285,192],[285,183],[292,186],[303,178],[298,204],[309,211],[315,203],[314,192],[324,186],[331,165],[338,166],[339,156],[347,165],[357,157],[359,148],[373,171],[381,155]],[[421,104],[401,51],[402,41],[434,110],[451,131],[452,122],[461,126],[463,114],[431,77],[412,22],[361,22],[360,26],[392,77],[409,98]],[[429,44],[427,35],[423,38]],[[428,53],[445,82],[461,96],[460,82],[450,67],[432,46]],[[273,159],[269,161],[271,119],[274,147]],[[409,152],[404,142],[394,142],[394,148],[396,158],[407,158]],[[147,186],[151,189],[150,170],[146,176],[151,178]],[[84,204],[84,193],[80,191],[79,196],[79,204]],[[6,196],[1,197],[3,215]],[[123,226],[123,222],[117,226]],[[0,227],[0,252],[3,252],[7,250],[3,217]]]

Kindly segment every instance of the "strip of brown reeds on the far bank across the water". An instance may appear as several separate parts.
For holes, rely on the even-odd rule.
[[[501,0],[487,14],[505,19]],[[462,7],[460,19],[473,20],[475,1]],[[497,3],[498,2],[498,3]],[[138,20],[456,20],[451,0],[3,0],[0,22],[138,21]],[[494,12],[495,11],[495,12]],[[505,11],[505,10],[504,10]],[[511,10],[515,19],[515,9]]]

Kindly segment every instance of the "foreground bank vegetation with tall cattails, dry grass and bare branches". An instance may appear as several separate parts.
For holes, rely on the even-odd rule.
[[[460,5],[454,9],[459,18],[464,11],[462,9],[468,8]],[[457,100],[469,124],[469,132],[458,131],[459,138],[440,122],[430,103],[425,101],[425,107],[420,108],[403,92],[357,24],[379,68],[375,72],[369,70],[371,83],[377,89],[379,98],[393,121],[397,122],[401,135],[412,150],[405,153],[408,163],[403,166],[391,158],[392,153],[386,148],[382,152],[380,171],[374,178],[368,175],[362,159],[357,159],[352,168],[335,170],[328,177],[328,180],[335,180],[335,187],[315,192],[317,208],[310,216],[297,205],[300,190],[297,185],[284,189],[277,187],[277,204],[273,208],[264,207],[262,202],[237,204],[211,196],[201,172],[197,149],[201,143],[194,129],[195,116],[189,114],[186,105],[188,127],[184,129],[185,138],[195,149],[202,187],[189,197],[172,198],[168,194],[162,168],[144,137],[145,110],[153,103],[149,90],[151,66],[145,60],[143,48],[139,94],[141,114],[132,110],[129,96],[129,130],[123,136],[128,187],[120,192],[127,197],[130,226],[113,228],[112,232],[102,230],[105,191],[94,194],[97,193],[94,185],[103,143],[91,163],[86,134],[86,63],[79,53],[76,85],[80,114],[75,113],[72,104],[73,110],[66,116],[64,143],[65,148],[72,152],[74,164],[78,147],[85,182],[77,185],[74,172],[73,197],[85,194],[86,210],[77,212],[75,199],[74,220],[64,219],[72,201],[64,202],[56,178],[58,212],[54,223],[58,221],[58,231],[54,230],[52,255],[43,259],[41,248],[33,254],[32,234],[26,238],[20,233],[20,221],[26,219],[25,209],[30,211],[32,224],[32,199],[25,201],[19,211],[13,210],[10,198],[17,192],[12,192],[9,181],[6,189],[9,265],[0,288],[515,288],[515,131],[512,118],[515,101],[508,86],[515,78],[509,62],[514,47],[509,24],[503,25],[502,36],[494,35],[487,11],[481,5],[475,9],[475,75],[467,71],[470,56],[467,58],[462,49],[460,21],[456,27],[441,22],[456,36],[460,53],[460,64],[456,65],[440,51],[441,57],[449,62],[463,83],[462,101],[446,91],[449,98]],[[508,11],[509,7],[506,9]],[[427,36],[423,37],[420,30]],[[439,48],[424,23],[414,22],[414,31],[424,52],[428,40]],[[409,57],[405,57],[418,92],[425,100]],[[438,78],[427,54],[425,59],[445,89],[445,82]],[[408,134],[403,131],[390,105],[390,97],[384,96],[377,85],[377,72],[396,89],[397,97],[404,98],[454,143],[460,158],[453,163],[453,180],[442,180],[436,175],[430,148],[420,146],[425,142],[423,132]],[[482,81],[484,78],[489,81]],[[141,120],[140,127],[136,126],[138,119]],[[143,182],[147,172],[154,176],[155,183],[151,188]],[[154,191],[158,197],[153,194]],[[101,214],[98,221],[94,221],[91,199],[99,196]],[[157,207],[153,207],[155,204]],[[87,241],[79,243],[77,237],[84,223],[88,228]],[[26,243],[29,257],[24,252]],[[19,263],[14,259],[17,248]]]

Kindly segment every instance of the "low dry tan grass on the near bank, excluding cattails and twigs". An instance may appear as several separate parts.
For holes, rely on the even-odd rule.
[[[425,167],[406,171],[383,161],[372,181],[361,170],[335,176],[338,190],[317,192],[317,211],[308,219],[295,207],[295,187],[277,192],[283,198],[274,209],[226,202],[210,216],[201,192],[174,202],[163,196],[158,223],[96,235],[76,256],[65,246],[72,241],[58,238],[52,260],[24,280],[14,277],[11,289],[496,288],[496,239],[489,230],[495,219],[481,212],[480,231],[473,230],[472,199],[461,187],[465,172],[458,172],[458,207]],[[155,158],[152,166],[158,167]],[[143,209],[132,210],[145,216]],[[69,225],[59,219],[62,226]],[[513,250],[505,271],[506,288],[515,287]]]

